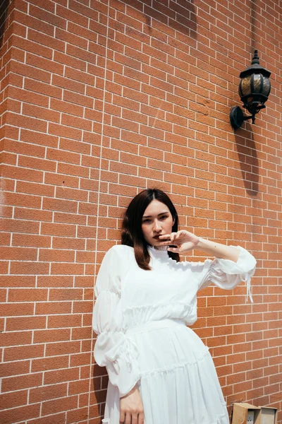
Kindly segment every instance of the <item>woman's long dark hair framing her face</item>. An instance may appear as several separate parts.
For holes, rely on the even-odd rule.
[[[159,189],[146,189],[137,194],[125,211],[121,228],[121,244],[134,248],[135,259],[140,268],[149,270],[148,244],[142,232],[142,216],[152,200],[158,200],[165,204],[171,212],[174,220],[172,232],[178,231],[178,214],[168,195]],[[179,254],[168,252],[169,257],[179,261]]]

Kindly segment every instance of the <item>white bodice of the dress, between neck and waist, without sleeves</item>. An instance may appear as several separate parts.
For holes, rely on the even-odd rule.
[[[133,250],[131,254],[134,255]],[[131,260],[121,282],[124,327],[167,318],[193,324],[197,319],[199,281],[209,262],[193,267],[188,262],[174,261],[166,250],[152,247],[149,254],[151,270],[140,269],[136,261]]]

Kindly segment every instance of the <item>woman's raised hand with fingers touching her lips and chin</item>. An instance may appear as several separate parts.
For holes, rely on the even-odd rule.
[[[192,234],[192,232],[180,230],[178,232],[171,232],[171,234],[160,235],[159,240],[164,240],[164,242],[161,242],[162,246],[176,246],[168,247],[168,252],[185,254],[186,252],[190,252],[190,250],[195,249],[200,237]]]

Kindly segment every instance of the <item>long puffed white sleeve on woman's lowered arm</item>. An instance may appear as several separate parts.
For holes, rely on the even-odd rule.
[[[116,246],[118,247],[118,246]],[[120,396],[128,394],[140,378],[137,348],[126,337],[121,311],[121,276],[123,261],[116,247],[106,253],[95,284],[96,302],[92,327],[97,334],[94,358],[106,367],[111,384],[118,387]]]

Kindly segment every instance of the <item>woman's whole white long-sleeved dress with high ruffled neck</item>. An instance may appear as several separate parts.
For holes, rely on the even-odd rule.
[[[137,266],[133,247],[116,245],[102,261],[93,329],[97,364],[109,385],[105,418],[119,424],[119,399],[135,384],[145,424],[228,424],[226,403],[209,350],[186,325],[197,320],[197,290],[214,283],[232,289],[247,281],[256,261],[242,247],[226,259],[176,262],[149,247],[150,271]]]

